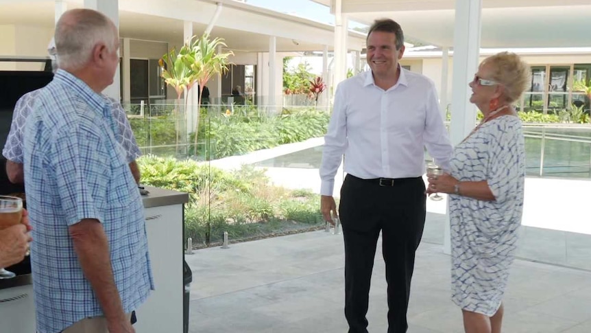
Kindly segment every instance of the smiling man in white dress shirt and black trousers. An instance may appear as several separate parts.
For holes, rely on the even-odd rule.
[[[402,69],[404,34],[378,20],[367,34],[366,71],[339,84],[320,167],[324,219],[337,216],[335,174],[347,173],[339,216],[345,243],[345,317],[367,333],[367,303],[380,232],[388,283],[388,333],[407,332],[415,251],[425,221],[424,147],[448,168],[452,147],[429,78]]]

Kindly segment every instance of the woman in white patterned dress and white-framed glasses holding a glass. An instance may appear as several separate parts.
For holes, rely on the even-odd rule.
[[[470,82],[470,102],[484,118],[455,147],[450,173],[429,178],[429,194],[450,194],[452,300],[466,333],[500,333],[525,178],[522,126],[511,103],[530,80],[516,54],[486,58]]]

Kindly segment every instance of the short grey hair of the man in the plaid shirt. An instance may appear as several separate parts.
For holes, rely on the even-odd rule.
[[[98,43],[104,43],[112,51],[119,37],[112,21],[101,12],[74,9],[65,12],[58,21],[55,38],[58,66],[76,70],[91,60]]]

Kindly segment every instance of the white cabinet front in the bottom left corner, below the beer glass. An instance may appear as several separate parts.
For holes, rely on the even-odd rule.
[[[0,332],[35,333],[35,302],[31,284],[0,290]]]

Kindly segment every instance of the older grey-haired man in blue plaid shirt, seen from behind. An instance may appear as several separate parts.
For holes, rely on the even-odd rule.
[[[119,65],[117,28],[76,9],[55,38],[60,70],[23,135],[37,330],[134,332],[130,312],[154,281],[142,200],[100,94]]]

